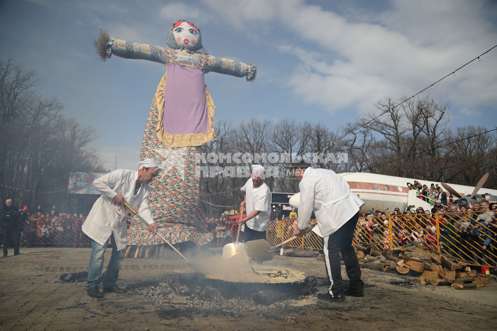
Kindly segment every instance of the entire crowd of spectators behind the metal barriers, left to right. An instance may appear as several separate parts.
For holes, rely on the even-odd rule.
[[[497,202],[492,201],[489,195],[484,195],[480,201],[473,203],[469,203],[468,199],[453,201],[452,196],[447,197],[443,189],[437,185],[432,184],[428,188],[427,185],[421,185],[416,181],[413,185],[409,185],[409,188],[419,192],[419,199],[430,202],[431,209],[421,207],[414,209],[410,205],[405,210],[369,209],[359,218],[355,241],[374,243],[380,249],[389,248],[391,241],[395,246],[420,242],[427,248],[439,247],[442,252],[449,255],[491,265],[495,272]],[[3,246],[9,239],[14,240],[11,231],[13,228],[17,230],[18,243],[21,247],[74,247],[89,243],[89,239],[81,231],[85,219],[83,214],[61,213],[55,205],[48,211],[38,205],[35,211],[30,213],[27,206],[18,209],[12,206],[12,201],[8,203],[9,206],[7,203],[3,206],[0,221],[6,219],[6,212],[15,216],[10,218],[10,223],[0,224],[3,224],[1,226]],[[209,231],[213,233],[214,239],[211,244],[221,246],[235,240],[238,230],[236,217],[222,214],[218,218],[206,217],[205,222]],[[283,215],[281,218],[271,219],[267,236],[273,237],[276,242],[290,238],[297,228],[297,222],[297,212],[292,209],[288,217]],[[391,227],[390,222],[392,222]],[[240,233],[242,242],[244,227],[242,225]],[[5,252],[6,250],[4,256]],[[15,254],[18,254],[18,250]]]

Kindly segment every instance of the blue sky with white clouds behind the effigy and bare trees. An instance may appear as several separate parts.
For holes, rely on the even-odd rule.
[[[497,44],[497,2],[458,0],[0,0],[0,59],[48,78],[64,114],[95,128],[106,167],[135,168],[164,66],[97,59],[99,28],[164,45],[178,19],[200,28],[209,54],[253,62],[254,82],[205,76],[215,121],[322,122],[335,129],[380,98],[412,95]],[[450,100],[450,125],[492,127],[497,48],[429,89]],[[424,93],[423,95],[424,96]],[[488,117],[493,119],[489,122]]]

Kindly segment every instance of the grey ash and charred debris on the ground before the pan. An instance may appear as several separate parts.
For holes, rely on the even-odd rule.
[[[275,307],[287,307],[286,301],[275,302],[269,306],[255,303],[250,298],[224,298],[211,286],[180,284],[176,279],[167,279],[159,286],[139,287],[133,292],[144,299],[152,300],[158,310],[174,308],[179,310],[201,309],[217,315],[242,316],[250,311],[268,311]],[[304,298],[305,296],[302,296]],[[294,298],[295,299],[295,298]]]

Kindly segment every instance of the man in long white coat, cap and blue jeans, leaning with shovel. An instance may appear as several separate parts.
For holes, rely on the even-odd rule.
[[[112,255],[103,279],[103,291],[124,293],[116,285],[119,267],[124,260],[128,239],[127,213],[124,202],[138,212],[149,223],[149,231],[157,232],[157,224],[147,204],[149,183],[159,174],[160,167],[153,159],[138,162],[138,171],[117,169],[97,178],[93,186],[102,195],[98,198],[83,223],[83,232],[91,239],[91,256],[88,266],[86,292],[92,298],[101,298],[98,290],[103,256],[110,237]]]

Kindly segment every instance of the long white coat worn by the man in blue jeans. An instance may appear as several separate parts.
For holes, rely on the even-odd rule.
[[[131,207],[136,208],[139,205],[140,215],[149,225],[154,223],[154,218],[147,204],[150,186],[142,182],[135,195],[137,179],[138,171],[117,169],[93,181],[93,186],[102,195],[95,201],[83,223],[83,232],[88,237],[100,245],[104,245],[113,233],[117,250],[126,248],[128,240],[126,213],[130,211],[114,201],[117,194],[122,195]]]

